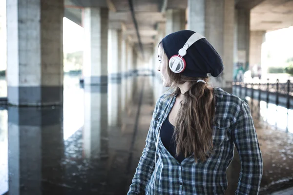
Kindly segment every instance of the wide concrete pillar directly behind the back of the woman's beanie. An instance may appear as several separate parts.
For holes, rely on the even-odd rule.
[[[224,63],[224,72],[211,85],[232,90],[234,0],[188,0],[188,29],[205,36]]]

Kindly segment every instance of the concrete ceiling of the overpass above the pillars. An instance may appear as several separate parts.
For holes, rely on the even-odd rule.
[[[138,47],[139,40],[128,0],[64,1],[65,17],[79,25],[82,25],[84,7],[109,7],[109,27],[123,29],[125,36],[135,48]],[[144,48],[151,48],[155,43],[155,36],[158,35],[157,24],[166,21],[165,10],[186,9],[188,6],[188,0],[133,0],[132,2]],[[235,0],[235,7],[251,10],[251,30],[271,31],[293,25],[293,0]]]

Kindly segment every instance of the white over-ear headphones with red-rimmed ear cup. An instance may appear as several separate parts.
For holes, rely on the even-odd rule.
[[[178,55],[174,55],[169,59],[169,68],[173,73],[182,73],[186,68],[186,61],[183,58],[187,54],[187,49],[199,39],[206,39],[199,33],[192,34],[183,47],[178,51]]]

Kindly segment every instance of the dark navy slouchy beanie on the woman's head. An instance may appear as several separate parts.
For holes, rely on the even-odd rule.
[[[194,33],[194,31],[182,30],[167,35],[162,40],[162,44],[168,59],[178,55],[179,49]],[[193,43],[183,58],[186,61],[186,68],[180,74],[188,77],[207,77],[209,73],[213,77],[218,77],[224,70],[220,55],[207,39],[199,39]]]

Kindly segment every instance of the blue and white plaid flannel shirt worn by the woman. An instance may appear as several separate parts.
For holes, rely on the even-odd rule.
[[[188,156],[179,163],[169,154],[161,139],[157,148],[157,173],[154,185],[155,143],[159,128],[165,121],[176,97],[163,95],[156,102],[146,147],[139,160],[127,195],[224,195],[228,187],[226,170],[234,154],[240,156],[241,173],[236,195],[257,195],[262,177],[263,161],[251,110],[240,98],[214,87],[216,108],[213,125],[213,151],[205,162],[195,163]]]

